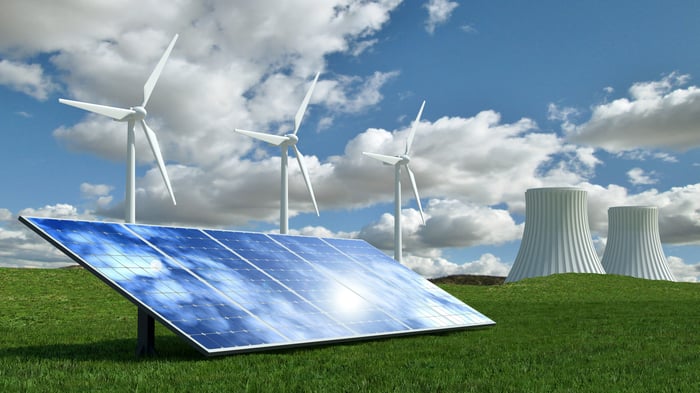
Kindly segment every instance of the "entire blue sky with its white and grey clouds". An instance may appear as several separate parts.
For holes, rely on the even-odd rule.
[[[137,221],[271,231],[279,151],[234,128],[302,128],[320,217],[290,161],[293,233],[390,252],[393,170],[426,100],[403,190],[404,262],[426,276],[505,275],[524,194],[588,191],[602,253],[607,208],[659,207],[679,279],[700,277],[700,4],[677,1],[10,1],[0,15],[0,265],[67,259],[20,214],[123,218],[124,123],[58,103],[129,107],[175,33],[148,104],[178,205],[137,130]],[[133,3],[133,4],[130,4]]]

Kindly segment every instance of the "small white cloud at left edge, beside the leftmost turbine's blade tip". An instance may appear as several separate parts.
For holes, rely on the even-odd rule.
[[[0,60],[0,85],[44,101],[56,85],[39,64],[23,64],[7,59]]]

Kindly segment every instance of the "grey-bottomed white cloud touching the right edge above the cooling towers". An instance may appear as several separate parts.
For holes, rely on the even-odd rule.
[[[611,152],[700,146],[700,89],[681,88],[687,81],[687,75],[672,73],[635,83],[629,99],[596,106],[590,120],[570,130],[569,137]]]

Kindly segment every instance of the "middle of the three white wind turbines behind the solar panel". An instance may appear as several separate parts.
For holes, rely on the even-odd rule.
[[[316,215],[318,216],[318,205],[316,204],[316,197],[314,196],[314,190],[311,187],[311,180],[309,179],[309,171],[306,169],[306,164],[304,164],[304,156],[297,148],[297,142],[299,142],[299,137],[297,137],[297,132],[299,131],[299,126],[301,126],[301,120],[304,118],[304,113],[306,112],[306,107],[309,106],[309,100],[311,99],[311,94],[314,91],[316,82],[318,81],[318,76],[320,72],[316,73],[314,81],[311,83],[309,91],[306,92],[306,97],[304,101],[301,102],[301,106],[297,110],[296,116],[294,116],[294,131],[286,135],[273,135],[264,132],[256,131],[246,131],[241,129],[234,129],[235,132],[249,137],[259,139],[261,141],[267,142],[271,145],[279,146],[282,151],[281,155],[281,180],[280,180],[280,233],[286,234],[289,231],[289,182],[287,179],[287,155],[288,148],[291,146],[294,149],[294,155],[297,157],[297,162],[299,163],[299,169],[304,177],[304,182],[306,183],[306,188],[309,190],[311,195],[311,202],[314,204],[314,209],[316,210]]]

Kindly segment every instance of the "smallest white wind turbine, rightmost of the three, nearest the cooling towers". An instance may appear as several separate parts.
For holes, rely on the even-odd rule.
[[[425,217],[423,217],[423,207],[420,204],[420,197],[418,196],[418,187],[416,186],[416,178],[413,176],[411,168],[408,163],[411,161],[411,157],[408,155],[411,152],[411,145],[413,144],[413,136],[416,133],[416,127],[420,122],[420,116],[423,114],[423,108],[425,107],[425,101],[420,106],[418,111],[418,116],[413,122],[413,127],[408,134],[408,140],[406,141],[406,151],[400,156],[387,156],[384,154],[377,153],[367,153],[362,152],[362,154],[379,160],[388,165],[394,166],[394,259],[399,263],[401,262],[401,166],[406,167],[406,172],[408,173],[408,178],[411,180],[411,186],[413,187],[413,195],[416,197],[416,202],[418,203],[418,210],[420,211],[420,218],[425,224]]]

